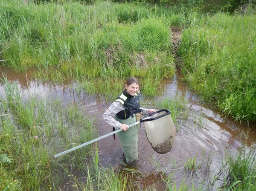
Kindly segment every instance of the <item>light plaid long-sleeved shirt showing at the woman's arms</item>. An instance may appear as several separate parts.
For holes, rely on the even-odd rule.
[[[122,110],[125,110],[125,107],[120,102],[114,101],[110,105],[110,107],[108,107],[108,109],[105,111],[102,118],[111,126],[116,127],[116,129],[120,129],[121,123],[116,121],[116,119],[114,119],[114,116],[116,115],[116,113],[119,113]],[[143,108],[142,109],[143,114],[148,114],[148,110],[149,109]]]

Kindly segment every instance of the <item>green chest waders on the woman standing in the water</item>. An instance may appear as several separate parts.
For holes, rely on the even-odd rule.
[[[136,122],[136,114],[133,114],[134,117],[129,117],[128,119],[119,119],[114,117],[116,121],[122,124],[133,124]],[[129,128],[126,131],[120,131],[117,133],[119,141],[122,145],[123,152],[125,154],[125,159],[127,165],[135,167],[138,164],[138,134],[140,130],[140,124],[135,125],[134,127]]]

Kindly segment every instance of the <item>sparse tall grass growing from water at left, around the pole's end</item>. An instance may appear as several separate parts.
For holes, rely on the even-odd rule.
[[[0,152],[12,162],[1,162],[1,190],[47,190],[48,185],[56,189],[69,173],[69,165],[85,169],[92,145],[53,159],[55,153],[95,137],[93,123],[76,106],[64,108],[60,101],[36,97],[24,100],[15,84],[7,84],[4,89],[6,99],[0,101]]]

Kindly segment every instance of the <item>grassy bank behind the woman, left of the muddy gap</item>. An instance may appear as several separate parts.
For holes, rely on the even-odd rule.
[[[175,18],[167,20],[161,9],[22,0],[4,0],[0,9],[0,58],[8,67],[57,70],[80,79],[174,74],[169,27]]]

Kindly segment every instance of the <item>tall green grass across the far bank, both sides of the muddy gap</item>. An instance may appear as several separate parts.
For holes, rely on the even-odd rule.
[[[38,67],[46,80],[141,78],[154,95],[172,76],[171,26],[185,27],[178,55],[192,87],[236,120],[255,121],[255,14],[202,15],[129,3],[0,3],[0,58]],[[235,40],[234,40],[235,39]],[[150,82],[154,82],[151,83]],[[98,88],[99,89],[99,88]]]

